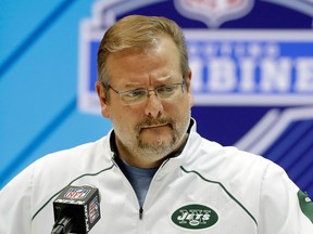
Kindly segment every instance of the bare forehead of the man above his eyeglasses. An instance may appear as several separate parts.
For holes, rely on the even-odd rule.
[[[140,82],[181,75],[179,53],[174,41],[163,37],[154,47],[111,53],[107,61],[112,82]]]

